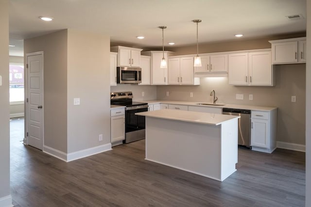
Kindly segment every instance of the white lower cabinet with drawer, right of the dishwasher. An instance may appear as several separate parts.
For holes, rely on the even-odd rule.
[[[276,149],[276,109],[251,112],[252,150],[272,153]]]

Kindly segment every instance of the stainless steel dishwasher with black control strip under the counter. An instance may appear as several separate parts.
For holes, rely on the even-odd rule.
[[[223,109],[223,114],[241,116],[238,124],[238,144],[246,147],[250,146],[251,111],[244,109]]]

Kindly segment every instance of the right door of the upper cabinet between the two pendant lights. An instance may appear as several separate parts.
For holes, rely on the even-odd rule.
[[[180,82],[183,85],[193,85],[193,57],[180,58]]]

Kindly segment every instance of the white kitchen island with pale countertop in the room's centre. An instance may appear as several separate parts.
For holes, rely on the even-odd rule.
[[[136,114],[146,117],[146,160],[219,181],[236,171],[240,116],[169,109]]]

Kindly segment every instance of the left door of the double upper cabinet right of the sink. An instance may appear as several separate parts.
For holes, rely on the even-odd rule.
[[[248,84],[248,54],[228,55],[228,82],[230,85]]]

